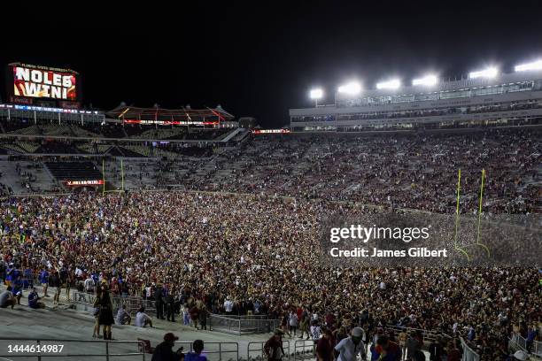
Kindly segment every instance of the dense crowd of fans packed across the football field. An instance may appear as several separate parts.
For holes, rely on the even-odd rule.
[[[363,211],[182,192],[7,198],[0,277],[13,295],[32,274],[55,292],[92,280],[112,296],[156,300],[158,318],[174,319],[182,306],[196,326],[208,311],[268,314],[291,337],[313,339],[321,326],[340,334],[360,326],[368,339],[389,326],[440,330],[465,336],[488,360],[504,357],[513,326],[525,335],[538,327],[537,269],[321,264],[321,219]]]

